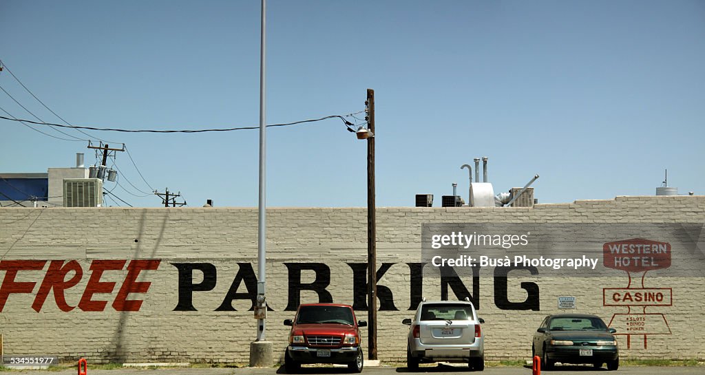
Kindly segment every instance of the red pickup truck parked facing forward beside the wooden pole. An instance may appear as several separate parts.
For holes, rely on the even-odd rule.
[[[353,372],[362,372],[360,327],[367,321],[356,320],[353,307],[333,303],[299,305],[291,326],[289,345],[284,354],[288,374],[300,370],[301,364],[347,364]]]

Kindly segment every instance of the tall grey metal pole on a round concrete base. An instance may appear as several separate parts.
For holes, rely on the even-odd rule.
[[[257,223],[257,339],[250,343],[250,367],[271,367],[272,343],[264,340],[266,318],[266,0],[262,0],[259,50],[259,207]]]

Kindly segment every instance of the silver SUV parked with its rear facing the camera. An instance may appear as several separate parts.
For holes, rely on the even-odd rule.
[[[466,362],[484,370],[484,332],[472,302],[422,300],[409,327],[406,362],[410,370],[419,363]]]

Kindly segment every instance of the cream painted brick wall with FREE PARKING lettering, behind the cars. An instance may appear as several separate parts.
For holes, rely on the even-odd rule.
[[[705,197],[617,197],[534,208],[379,208],[377,261],[389,265],[378,285],[388,288],[396,308],[378,312],[379,358],[405,359],[407,326],[400,322],[414,308],[412,284],[419,280],[412,269],[421,262],[422,223],[551,222],[703,223]],[[357,208],[270,208],[267,227],[267,295],[273,311],[267,316],[266,339],[274,342],[275,358],[281,360],[288,339],[282,321],[293,317],[287,307],[319,301],[319,293],[307,290],[307,284],[322,285],[322,293],[330,293],[334,302],[352,304],[356,288],[358,297],[364,293],[359,276],[367,262],[367,213]],[[128,265],[135,259],[159,263],[152,263],[156,269],[141,264],[145,270],[130,273]],[[248,288],[255,288],[250,276],[257,273],[257,209],[3,208],[0,260],[0,280],[9,291],[0,293],[6,355],[86,357],[91,362],[247,362],[256,333],[247,293],[255,291]],[[119,270],[97,275],[101,265]],[[472,293],[472,278],[462,281]],[[532,334],[545,315],[558,312],[560,295],[577,296],[578,311],[606,321],[626,312],[603,307],[602,301],[602,288],[625,287],[626,276],[509,278],[509,300],[526,299],[522,281],[539,285],[539,311],[499,309],[491,271],[481,273],[486,359],[528,359]],[[425,272],[420,283],[424,297],[441,297],[437,276]],[[147,285],[147,293],[135,293]],[[296,285],[304,285],[303,290],[297,293]],[[705,358],[704,280],[646,282],[663,285],[673,288],[673,306],[649,307],[649,312],[663,313],[672,334],[651,335],[647,342],[634,335],[629,349],[620,336],[622,357]],[[235,293],[231,304],[223,303],[228,290]],[[142,303],[136,311],[118,311],[135,309],[130,300]],[[97,311],[85,311],[91,309]],[[357,315],[367,319],[364,310]]]

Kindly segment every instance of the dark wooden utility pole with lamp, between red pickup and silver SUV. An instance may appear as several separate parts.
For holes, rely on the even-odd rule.
[[[377,359],[377,247],[374,194],[374,90],[367,89],[367,123],[372,136],[367,138],[367,319],[368,355]]]

